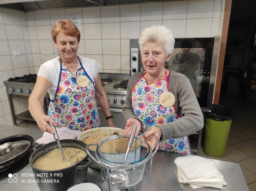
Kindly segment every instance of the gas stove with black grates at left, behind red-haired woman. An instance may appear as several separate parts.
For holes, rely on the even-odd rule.
[[[5,84],[5,87],[6,87],[6,92],[9,95],[8,101],[9,101],[9,105],[11,109],[11,117],[14,125],[17,124],[16,119],[35,121],[28,110],[20,114],[15,114],[12,98],[15,95],[30,96],[35,86],[36,77],[37,77],[36,74],[29,74],[29,75],[24,75],[22,77],[9,78],[9,80],[3,81],[3,84]],[[46,94],[46,98],[49,98],[48,93]],[[44,99],[43,109],[47,114],[46,98]]]

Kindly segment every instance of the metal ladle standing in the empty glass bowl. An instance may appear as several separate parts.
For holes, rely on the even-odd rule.
[[[135,123],[134,126],[133,126],[133,130],[131,131],[131,136],[130,136],[130,139],[129,139],[129,142],[128,142],[127,151],[126,151],[125,159],[124,159],[123,163],[126,163],[126,161],[127,161],[127,158],[128,158],[129,152],[130,152],[130,148],[133,144],[133,139],[134,139],[134,136],[135,136],[137,125],[138,124]],[[135,148],[135,150],[136,150],[136,148]],[[122,186],[122,185],[126,184],[129,181],[123,168],[110,172],[109,173],[109,179],[110,179],[112,184],[119,185],[119,186]]]

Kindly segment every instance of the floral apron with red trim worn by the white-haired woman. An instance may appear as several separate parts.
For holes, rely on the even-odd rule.
[[[145,134],[153,127],[171,123],[181,117],[177,114],[175,106],[163,107],[159,103],[159,96],[169,91],[167,83],[167,71],[165,79],[148,85],[144,75],[137,81],[132,90],[132,103],[135,115],[143,121],[144,126],[140,134]],[[188,137],[169,139],[159,142],[159,150],[171,151],[190,155]]]

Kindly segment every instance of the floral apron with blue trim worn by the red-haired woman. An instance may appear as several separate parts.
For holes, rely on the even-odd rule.
[[[55,99],[50,102],[48,116],[55,120],[58,127],[85,131],[100,127],[100,122],[95,102],[94,83],[81,62],[80,66],[81,68],[74,75],[69,70],[62,69],[61,64],[58,88]],[[87,76],[89,79],[89,84],[85,88],[77,85],[77,77],[80,75]]]

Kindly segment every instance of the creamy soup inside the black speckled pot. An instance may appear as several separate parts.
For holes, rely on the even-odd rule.
[[[86,156],[86,152],[78,148],[64,147],[62,149],[66,159],[69,161],[63,161],[61,151],[59,148],[55,148],[37,159],[34,167],[47,171],[63,169],[77,164]]]

